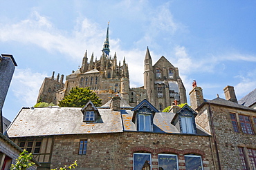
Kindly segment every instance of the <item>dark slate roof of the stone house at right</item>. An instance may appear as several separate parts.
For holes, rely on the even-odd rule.
[[[250,110],[250,111],[256,111],[256,109],[246,107],[244,105],[239,105],[238,103],[231,102],[231,101],[223,99],[223,98],[214,98],[213,100],[204,99],[204,100],[205,100],[204,103],[212,103],[215,105],[223,105],[223,106],[227,106],[227,107],[235,107],[237,109],[246,109],[246,110]],[[201,108],[203,105],[204,104],[200,105],[199,108]],[[197,109],[199,109],[199,108],[197,108]]]

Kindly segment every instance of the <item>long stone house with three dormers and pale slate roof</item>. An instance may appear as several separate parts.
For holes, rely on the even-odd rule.
[[[51,169],[214,169],[212,136],[185,105],[159,112],[147,100],[131,107],[114,96],[102,107],[22,108],[8,136]]]

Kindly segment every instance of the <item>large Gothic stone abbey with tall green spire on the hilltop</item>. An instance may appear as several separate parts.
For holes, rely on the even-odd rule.
[[[86,50],[80,69],[67,75],[66,82],[64,82],[64,75],[57,74],[55,78],[55,72],[53,72],[51,77],[44,79],[39,89],[37,102],[57,105],[73,87],[89,87],[102,99],[102,105],[116,94],[119,94],[122,100],[125,100],[131,107],[135,107],[144,99],[149,100],[159,110],[172,105],[174,100],[178,104],[187,103],[185,87],[179,76],[179,70],[164,56],[161,56],[153,65],[147,47],[144,61],[144,86],[133,88],[129,87],[129,70],[125,58],[121,65],[116,52],[113,57],[109,52],[108,25],[100,59],[97,60],[93,53],[89,59]]]

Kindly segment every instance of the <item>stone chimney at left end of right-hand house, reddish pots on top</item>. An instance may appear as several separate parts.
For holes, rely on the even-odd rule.
[[[190,92],[190,105],[192,109],[196,109],[203,103],[203,89],[201,87],[194,87]]]

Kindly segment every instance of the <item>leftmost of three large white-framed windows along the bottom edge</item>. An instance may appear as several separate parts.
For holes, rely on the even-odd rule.
[[[134,170],[151,169],[150,153],[134,153]]]

